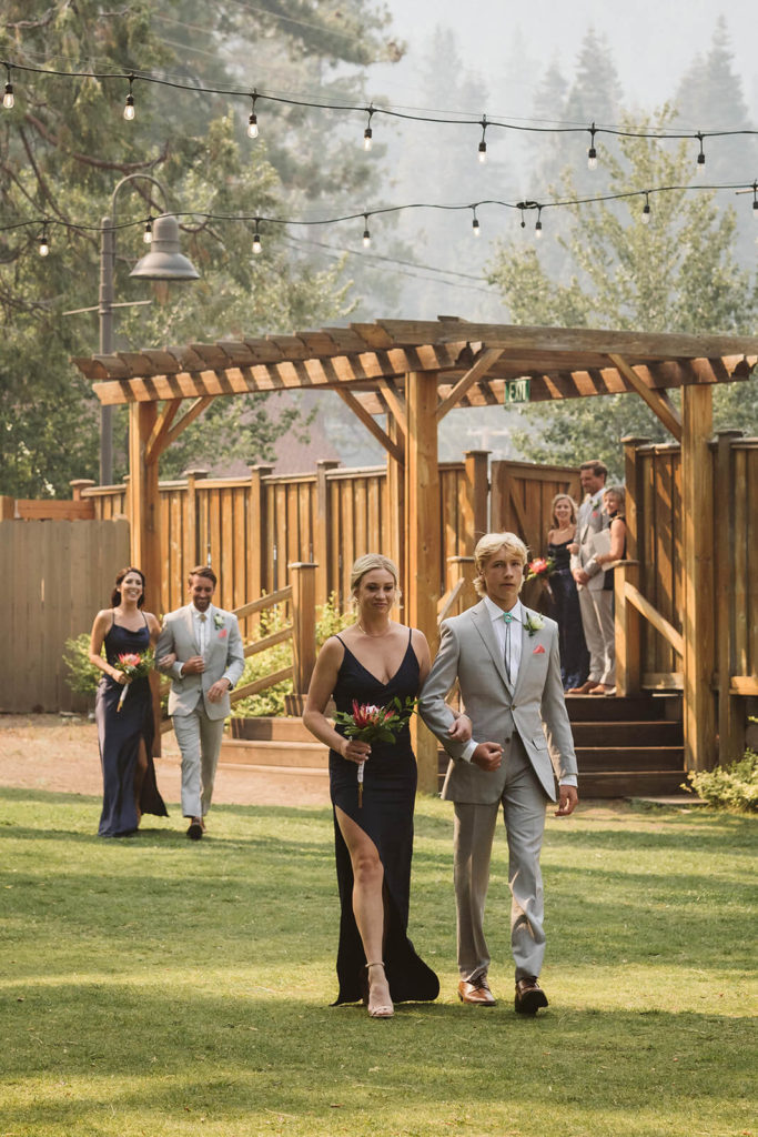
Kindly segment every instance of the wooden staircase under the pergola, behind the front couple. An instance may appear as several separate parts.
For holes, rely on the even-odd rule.
[[[680,696],[575,696],[566,699],[566,706],[583,798],[682,794]],[[292,774],[326,777],[328,772],[327,748],[308,733],[300,719],[232,719],[220,761]],[[440,785],[447,766],[447,755],[440,749]]]

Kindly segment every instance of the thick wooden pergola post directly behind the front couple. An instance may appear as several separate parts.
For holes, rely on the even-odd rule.
[[[440,471],[436,448],[436,372],[406,376],[406,622],[435,645],[436,606],[442,575]],[[438,791],[438,741],[414,715],[418,788]]]

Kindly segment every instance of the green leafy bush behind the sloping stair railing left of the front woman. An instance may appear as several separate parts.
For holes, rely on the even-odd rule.
[[[336,606],[336,596],[334,592],[330,596],[326,604],[320,605],[318,608],[318,614],[316,619],[316,644],[318,647],[330,638],[334,636],[335,632],[342,631],[348,624],[352,623],[352,615],[350,613],[342,613]],[[285,612],[283,605],[277,605],[275,608],[269,608],[264,612],[260,616],[260,638],[264,636],[272,636],[277,632],[281,628],[286,624]],[[280,671],[282,667],[290,667],[292,665],[292,641],[285,640],[283,644],[276,644],[274,647],[269,647],[266,652],[260,652],[258,655],[250,656],[245,659],[244,671],[242,672],[242,679],[239,686],[244,687],[245,683],[252,683],[256,679],[263,679],[264,675],[269,675],[274,671]],[[275,683],[273,687],[267,687],[266,690],[260,691],[258,695],[249,695],[244,699],[240,699],[235,703],[232,708],[232,714],[238,719],[259,719],[259,717],[275,717],[278,715],[286,714],[284,706],[285,695],[292,695],[294,690],[291,679],[285,679],[281,683]]]

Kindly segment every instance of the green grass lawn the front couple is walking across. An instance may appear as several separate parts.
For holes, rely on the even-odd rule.
[[[2,1137],[758,1132],[755,820],[550,816],[551,1004],[524,1020],[502,833],[481,1010],[456,998],[451,808],[419,800],[410,932],[442,994],[382,1022],[328,1006],[328,811],[219,806],[194,844],[176,806],[101,840],[99,805],[0,790]]]

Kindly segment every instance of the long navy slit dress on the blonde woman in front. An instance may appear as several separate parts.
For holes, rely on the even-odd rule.
[[[395,696],[401,703],[415,697],[419,688],[418,659],[410,645],[400,667],[388,683],[358,662],[342,639],[344,656],[334,688],[338,711],[352,712],[352,700],[385,706]],[[342,728],[336,728],[342,733]],[[414,803],[416,799],[416,757],[410,731],[405,727],[395,742],[372,742],[372,754],[364,766],[363,805],[358,808],[358,766],[335,750],[330,750],[332,804],[339,806],[367,833],[378,849],[384,869],[383,960],[390,994],[394,1003],[430,1002],[440,993],[435,973],[416,954],[407,936],[410,893],[410,861],[414,846]],[[336,972],[340,991],[334,1003],[355,1003],[366,994],[366,955],[352,912],[352,864],[334,814],[336,875],[342,907]],[[372,961],[373,962],[373,961]]]

